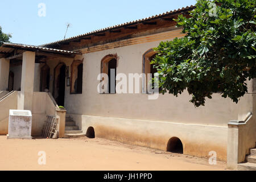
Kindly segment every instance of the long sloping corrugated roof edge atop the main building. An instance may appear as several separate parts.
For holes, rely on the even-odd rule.
[[[120,28],[120,27],[123,27],[123,26],[130,26],[132,24],[142,23],[142,22],[145,22],[145,21],[148,21],[148,20],[152,20],[152,19],[156,19],[156,18],[161,18],[162,16],[168,16],[168,15],[171,15],[171,14],[180,13],[182,11],[186,11],[186,10],[194,9],[194,8],[195,8],[195,6],[193,6],[193,5],[187,6],[187,7],[182,7],[181,9],[178,9],[178,10],[169,11],[169,12],[167,11],[166,13],[150,16],[148,18],[138,19],[138,20],[134,20],[132,22],[126,22],[126,23],[117,24],[117,25],[111,26],[111,27],[101,28],[100,30],[95,30],[95,31],[92,31],[92,32],[88,32],[86,34],[72,36],[71,38],[67,38],[67,39],[63,39],[63,40],[58,40],[56,42],[51,42],[51,43],[48,43],[48,44],[43,44],[42,46],[43,47],[51,46],[52,44],[57,44],[57,43],[60,43],[60,42],[65,42],[67,40],[77,39],[77,38],[80,38],[80,37],[83,37],[83,36],[88,36],[88,35],[93,35],[93,34],[97,34],[97,33],[100,33],[100,32],[104,32],[104,31],[109,31],[109,30],[112,30],[114,28]]]

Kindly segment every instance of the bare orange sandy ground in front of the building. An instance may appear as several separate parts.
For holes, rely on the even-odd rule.
[[[39,151],[46,165],[39,165]],[[130,146],[106,139],[6,139],[0,136],[0,170],[225,170],[226,163]]]

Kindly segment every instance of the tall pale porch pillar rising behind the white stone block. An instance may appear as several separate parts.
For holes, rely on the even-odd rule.
[[[22,59],[22,81],[20,90],[21,110],[32,110],[34,92],[35,52],[26,51]],[[38,103],[40,104],[40,103]]]

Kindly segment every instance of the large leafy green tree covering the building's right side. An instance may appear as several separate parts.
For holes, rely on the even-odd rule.
[[[255,0],[199,0],[175,20],[184,38],[161,42],[151,64],[159,73],[159,92],[178,96],[185,89],[196,107],[221,92],[234,102],[256,77]],[[153,80],[154,81],[154,80]]]

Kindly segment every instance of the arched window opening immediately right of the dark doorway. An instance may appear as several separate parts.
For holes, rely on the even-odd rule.
[[[75,60],[71,64],[71,94],[82,93],[82,60]]]

